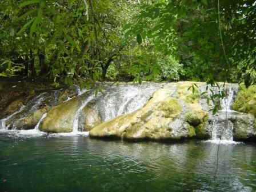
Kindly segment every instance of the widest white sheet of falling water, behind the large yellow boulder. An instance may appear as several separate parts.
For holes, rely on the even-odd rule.
[[[105,94],[97,99],[95,108],[99,111],[102,121],[108,121],[143,107],[160,86],[159,83],[143,83],[106,87]]]

